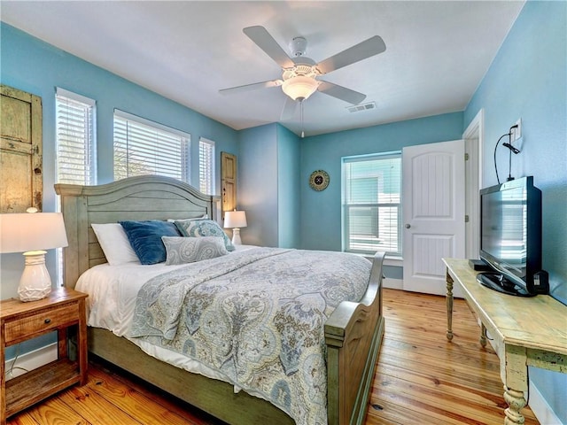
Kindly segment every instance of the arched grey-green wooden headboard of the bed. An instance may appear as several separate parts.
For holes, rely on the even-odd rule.
[[[56,184],[69,246],[63,250],[63,282],[74,288],[90,267],[106,262],[91,223],[119,220],[188,219],[207,214],[216,220],[220,197],[157,175],[129,177],[97,186]]]

